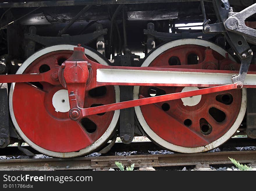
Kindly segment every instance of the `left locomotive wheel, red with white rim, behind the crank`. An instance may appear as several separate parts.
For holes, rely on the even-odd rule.
[[[16,74],[47,72],[67,60],[73,45],[56,45],[29,57]],[[86,55],[107,65],[99,53],[86,48]],[[86,92],[84,108],[119,102],[118,86],[103,86]],[[68,93],[61,85],[44,82],[13,83],[10,89],[10,115],[19,135],[34,149],[54,157],[69,158],[99,149],[113,133],[119,110],[91,115],[81,121],[68,117]]]

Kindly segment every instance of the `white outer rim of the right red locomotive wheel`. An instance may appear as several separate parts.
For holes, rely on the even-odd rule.
[[[181,40],[175,40],[172,42],[168,42],[161,47],[157,48],[154,50],[143,62],[141,65],[142,67],[147,67],[150,65],[150,63],[157,57],[159,56],[162,52],[173,48],[177,47],[180,45],[185,45],[185,44],[195,44],[195,45],[200,45],[204,47],[210,47],[214,51],[220,53],[222,56],[225,57],[226,51],[222,49],[221,47],[218,47],[216,44],[212,42],[208,42],[205,40],[201,39],[181,39]],[[229,58],[233,60],[232,56],[229,55]],[[134,99],[138,99],[139,96],[139,88],[140,86],[134,86]],[[239,111],[239,114],[237,116],[237,119],[235,120],[234,124],[231,126],[231,128],[219,139],[215,140],[214,142],[211,142],[210,144],[205,145],[204,147],[181,147],[175,144],[172,144],[170,142],[167,142],[166,140],[162,139],[159,137],[152,129],[148,126],[147,122],[145,121],[143,114],[141,112],[140,106],[134,107],[136,116],[138,118],[138,121],[140,122],[143,131],[152,139],[154,142],[157,144],[161,145],[162,147],[165,147],[166,149],[172,150],[172,151],[177,151],[181,153],[200,153],[204,151],[209,151],[211,149],[214,149],[221,144],[225,143],[230,137],[237,131],[237,128],[240,126],[243,117],[246,112],[246,88],[242,89],[242,101],[241,101],[241,108]]]

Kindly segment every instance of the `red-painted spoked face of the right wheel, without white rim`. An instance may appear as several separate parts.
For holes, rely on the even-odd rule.
[[[206,55],[203,54],[204,51]],[[198,55],[199,62],[196,65],[186,65],[185,63],[191,52]],[[163,52],[152,61],[149,67],[158,67],[159,63],[162,62],[168,68],[191,69],[193,67],[201,70],[204,66],[203,63],[209,63],[208,66],[212,68],[217,66],[217,69],[211,70],[213,73],[229,73],[234,71],[221,70],[240,68],[239,64],[234,63],[227,56],[223,59],[221,55],[212,51],[211,55],[215,58],[213,59],[211,56],[207,56],[207,52],[209,52],[207,49],[200,46],[182,45]],[[184,64],[170,66],[168,58],[172,56],[184,60]],[[161,64],[160,67],[164,67],[164,65]],[[141,86],[139,89],[140,97],[151,97],[148,91],[150,88],[150,86]],[[158,86],[157,88],[163,90],[165,94],[173,94],[181,92],[184,87]],[[199,88],[199,90],[205,89]],[[223,89],[219,92],[202,95],[200,102],[194,106],[185,106],[181,99],[176,99],[140,106],[140,109],[147,125],[163,140],[182,147],[204,147],[221,138],[234,124],[240,111],[241,97],[242,92],[239,89]],[[225,99],[229,99],[230,102],[225,102]],[[169,106],[169,108],[164,108],[164,106]],[[211,115],[209,111],[211,111]],[[211,127],[212,130],[205,135],[201,131],[202,127]]]

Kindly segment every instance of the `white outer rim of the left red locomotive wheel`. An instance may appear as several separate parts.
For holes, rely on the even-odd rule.
[[[53,52],[53,51],[59,51],[59,50],[72,50],[73,51],[74,47],[76,47],[76,46],[69,45],[69,44],[62,44],[62,45],[55,45],[55,46],[44,48],[44,49],[34,53],[27,60],[25,60],[25,62],[19,67],[16,74],[22,74],[25,71],[25,69],[35,59],[39,58],[40,56],[45,55],[46,53]],[[88,56],[92,57],[93,59],[97,60],[98,63],[101,63],[103,65],[108,65],[107,62],[104,59],[102,59],[100,56],[98,56],[93,51],[91,51],[89,49],[85,49],[85,52],[86,52],[86,55],[88,55]],[[107,128],[107,130],[105,131],[105,133],[98,140],[96,140],[93,144],[91,144],[90,146],[88,146],[84,149],[81,149],[79,152],[60,153],[60,152],[49,151],[47,149],[39,147],[38,145],[33,143],[31,140],[29,140],[29,138],[26,137],[26,135],[22,132],[21,128],[17,124],[17,121],[15,119],[15,115],[14,115],[14,112],[13,112],[13,101],[12,101],[13,100],[14,86],[15,86],[15,83],[12,83],[11,88],[10,88],[10,96],[9,96],[9,109],[10,109],[10,116],[11,116],[11,119],[13,121],[13,124],[14,124],[17,132],[21,136],[21,138],[24,141],[26,141],[26,143],[29,144],[32,148],[34,148],[35,150],[37,150],[41,153],[44,153],[46,155],[53,156],[53,157],[60,157],[60,158],[71,158],[71,157],[85,155],[85,154],[91,153],[95,149],[101,147],[102,144],[104,144],[109,139],[109,137],[112,135],[113,131],[115,130],[115,126],[116,126],[118,118],[119,118],[120,110],[115,110],[112,121],[111,121],[109,127]],[[114,89],[115,89],[115,101],[120,102],[119,86],[115,85]]]

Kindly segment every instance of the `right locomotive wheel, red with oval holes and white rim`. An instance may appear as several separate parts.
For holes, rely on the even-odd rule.
[[[225,58],[226,51],[216,44],[205,40],[182,39],[152,51],[142,67],[195,69],[204,60],[207,47],[213,50],[212,54],[218,60]],[[193,60],[193,56],[196,59]],[[198,60],[198,65],[193,65],[193,62],[188,65],[189,59],[193,62]],[[218,69],[217,65],[210,62],[207,67]],[[134,99],[201,88],[135,86]],[[156,144],[172,151],[199,153],[220,146],[236,132],[246,112],[246,90],[228,90],[138,106],[135,112],[144,132]]]

